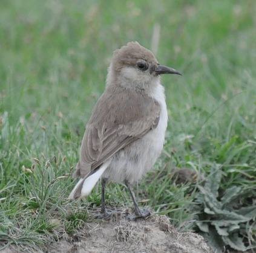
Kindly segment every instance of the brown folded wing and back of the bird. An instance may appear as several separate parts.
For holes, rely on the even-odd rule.
[[[74,176],[84,178],[159,122],[160,105],[151,97],[108,87],[87,124]]]

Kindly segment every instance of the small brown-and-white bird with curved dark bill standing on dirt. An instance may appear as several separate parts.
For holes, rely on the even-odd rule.
[[[73,173],[79,181],[68,199],[88,196],[101,179],[101,210],[107,182],[125,184],[136,217],[150,215],[136,202],[133,185],[155,164],[163,149],[168,124],[165,89],[160,75],[180,74],[160,65],[139,42],[128,42],[113,53],[105,91],[97,101],[80,146]]]

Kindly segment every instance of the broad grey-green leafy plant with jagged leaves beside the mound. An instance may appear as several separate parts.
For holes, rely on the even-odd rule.
[[[245,188],[234,185],[223,191],[222,179],[222,170],[215,165],[206,184],[199,185],[197,202],[203,210],[196,224],[215,246],[228,245],[238,251],[254,248],[256,205],[243,201],[248,197]]]

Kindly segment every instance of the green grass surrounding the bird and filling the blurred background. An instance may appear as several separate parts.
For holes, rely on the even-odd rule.
[[[159,62],[166,76],[169,125],[165,152],[136,187],[140,200],[182,230],[203,214],[198,185],[214,164],[220,195],[241,187],[243,206],[256,198],[255,1],[1,1],[0,245],[41,247],[87,220],[100,187],[68,202],[85,123],[103,92],[116,48],[138,40],[151,48],[159,24]],[[172,182],[174,167],[202,175]],[[129,205],[122,185],[108,205]],[[255,239],[248,223],[245,242]],[[250,230],[251,229],[251,230]],[[251,233],[250,233],[251,231]]]

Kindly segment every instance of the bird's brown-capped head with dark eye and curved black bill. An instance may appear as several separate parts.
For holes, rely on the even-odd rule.
[[[138,42],[128,42],[114,51],[107,83],[123,86],[145,86],[156,83],[160,74],[178,74],[176,69],[160,65],[154,54]]]

